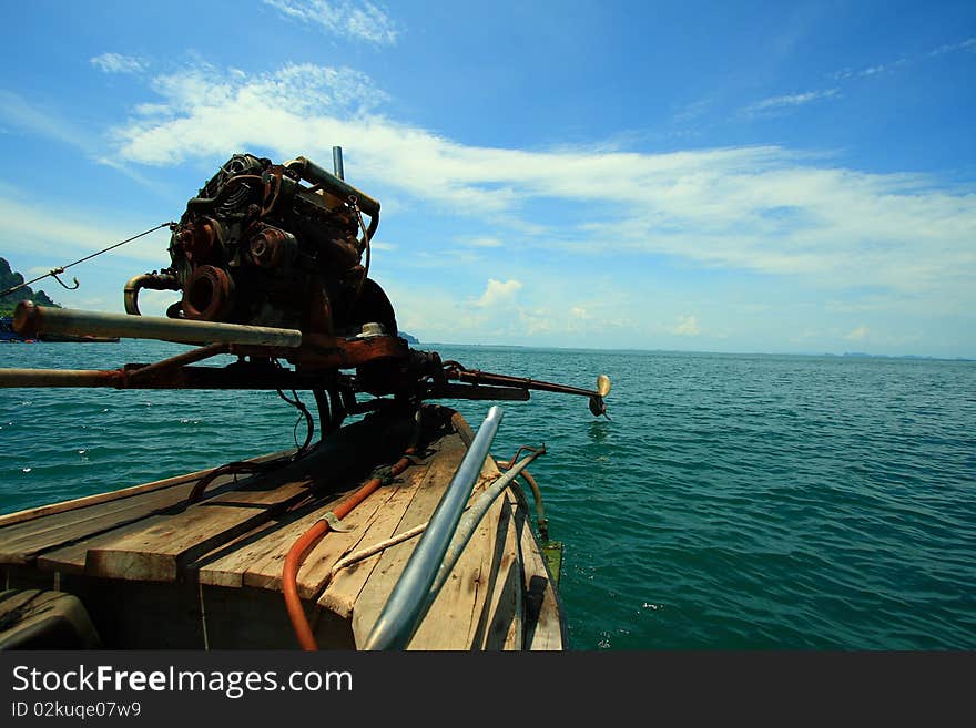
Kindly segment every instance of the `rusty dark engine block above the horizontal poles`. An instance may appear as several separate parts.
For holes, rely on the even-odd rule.
[[[336,172],[235,154],[172,226],[170,267],[126,284],[125,311],[139,315],[142,288],[179,290],[170,318],[329,336],[378,324],[369,330],[396,336],[393,306],[368,278],[379,203]]]

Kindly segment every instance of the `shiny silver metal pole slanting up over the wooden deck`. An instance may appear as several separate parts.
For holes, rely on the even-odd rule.
[[[461,464],[458,465],[450,484],[441,496],[427,530],[410,554],[404,573],[393,587],[379,618],[366,639],[366,649],[403,649],[410,642],[417,626],[424,618],[421,611],[450,545],[455,530],[475,482],[481,472],[488,449],[501,423],[501,409],[492,407],[488,417],[478,428],[478,433],[468,448]]]

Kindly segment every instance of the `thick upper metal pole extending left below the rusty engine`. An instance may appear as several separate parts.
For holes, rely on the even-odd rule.
[[[21,336],[75,334],[130,339],[159,339],[177,344],[244,344],[296,349],[302,331],[267,326],[192,321],[160,316],[129,316],[102,311],[38,306],[21,301],[13,312],[13,329]]]

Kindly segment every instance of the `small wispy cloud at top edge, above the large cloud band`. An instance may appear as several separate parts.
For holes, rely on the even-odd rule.
[[[398,24],[368,0],[264,0],[286,18],[317,25],[331,35],[360,40],[375,45],[393,45],[400,34]]]

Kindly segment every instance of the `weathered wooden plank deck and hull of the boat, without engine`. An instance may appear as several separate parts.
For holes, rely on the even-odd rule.
[[[436,406],[423,412],[415,462],[343,519],[348,531],[323,537],[298,572],[321,648],[366,644],[420,537],[397,542],[396,535],[430,520],[471,442],[460,414]],[[7,602],[19,595],[11,606],[20,605],[30,589],[78,597],[91,627],[68,630],[62,644],[69,646],[88,639],[108,648],[294,647],[282,599],[288,547],[394,462],[410,430],[401,413],[369,416],[283,470],[217,476],[196,503],[187,498],[209,471],[0,516],[3,585],[19,591],[7,592]],[[472,500],[499,475],[486,459]],[[375,553],[355,557],[377,544]],[[16,644],[16,635],[8,638]],[[514,483],[479,525],[409,648],[563,646],[556,578]]]

